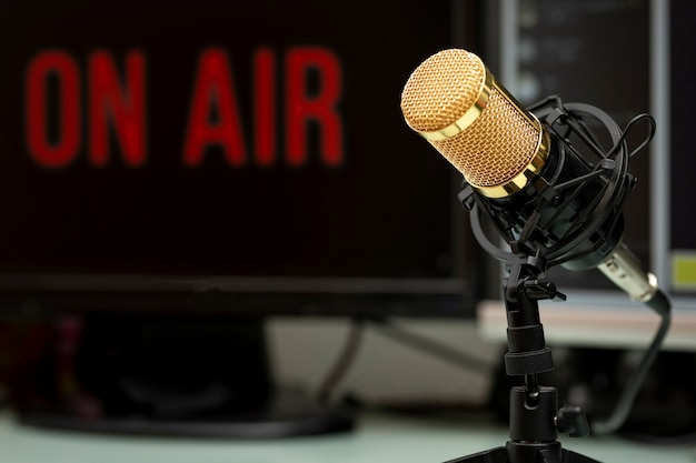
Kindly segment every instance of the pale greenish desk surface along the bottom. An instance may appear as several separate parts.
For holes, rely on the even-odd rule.
[[[507,429],[466,419],[367,415],[345,434],[270,441],[125,437],[34,429],[0,413],[1,463],[441,463],[505,444]],[[696,462],[692,446],[563,439],[603,463]]]

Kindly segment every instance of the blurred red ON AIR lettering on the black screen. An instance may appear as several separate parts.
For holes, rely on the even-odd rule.
[[[103,168],[118,157],[139,168],[151,150],[147,52],[123,56],[98,49],[81,67],[78,57],[46,49],[31,58],[24,78],[24,140],[33,162],[47,169],[64,168],[84,153]],[[231,53],[206,48],[198,56],[188,113],[179,137],[180,162],[189,168],[206,161],[206,149],[217,145],[232,168],[252,163],[300,167],[308,162],[309,124],[318,128],[319,162],[337,167],[345,160],[342,69],[337,53],[326,47],[290,47],[279,52],[260,47],[250,63],[236,67]],[[251,72],[250,88],[240,89],[236,72]],[[280,81],[282,80],[282,81]],[[310,82],[311,81],[311,82]],[[239,92],[251,95],[251,117],[243,120]],[[169,114],[168,117],[172,117]],[[280,121],[280,122],[279,122]],[[279,127],[281,125],[281,127]],[[111,152],[110,137],[118,152]]]

